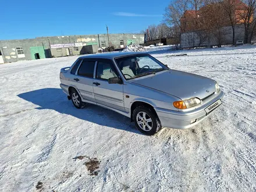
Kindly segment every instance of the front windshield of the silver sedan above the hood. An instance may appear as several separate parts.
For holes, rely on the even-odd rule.
[[[148,54],[125,56],[115,60],[126,80],[168,70],[168,67]]]

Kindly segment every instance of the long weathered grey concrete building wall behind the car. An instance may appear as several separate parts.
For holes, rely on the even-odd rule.
[[[110,44],[114,48],[120,48],[120,40],[123,40],[124,46],[130,42],[144,44],[144,38],[145,34],[109,34]],[[45,51],[45,58],[49,58],[52,56],[51,45],[75,44],[75,47],[83,47],[85,45],[98,45],[102,47],[103,42],[105,42],[106,47],[109,47],[107,34],[37,37],[26,40],[0,40],[0,50],[3,56],[3,61],[8,63],[33,59],[30,47],[42,46]],[[23,47],[24,55],[18,55],[16,47]],[[24,58],[20,56],[24,56]]]

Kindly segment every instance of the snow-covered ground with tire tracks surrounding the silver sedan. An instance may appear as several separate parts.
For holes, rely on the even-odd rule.
[[[77,56],[0,65],[0,191],[256,191],[256,47],[151,54],[218,81],[223,105],[148,137],[118,113],[74,108],[59,70]]]

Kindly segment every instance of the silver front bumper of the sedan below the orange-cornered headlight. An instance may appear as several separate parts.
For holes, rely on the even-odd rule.
[[[168,109],[155,108],[157,112],[158,118],[161,121],[161,125],[163,127],[172,127],[175,129],[187,129],[193,127],[200,123],[202,120],[207,118],[209,114],[207,114],[204,109],[207,106],[211,105],[218,99],[222,99],[224,96],[223,91],[218,93],[218,95],[214,94],[211,97],[205,99],[203,104],[198,108],[195,108],[191,111],[172,111]],[[215,111],[215,109],[214,109]],[[191,120],[196,121],[193,123]]]

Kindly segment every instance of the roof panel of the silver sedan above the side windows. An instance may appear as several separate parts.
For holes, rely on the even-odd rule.
[[[113,59],[121,56],[138,55],[138,54],[145,54],[145,53],[144,52],[108,52],[108,53],[98,53],[98,54],[80,56],[79,59],[87,59],[87,58]]]

